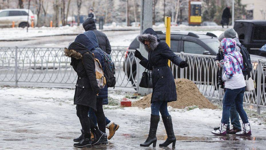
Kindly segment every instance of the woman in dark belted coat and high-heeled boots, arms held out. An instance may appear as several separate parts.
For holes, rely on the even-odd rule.
[[[168,60],[181,68],[187,67],[186,61],[182,60],[174,54],[169,46],[159,39],[152,28],[146,29],[138,37],[138,41],[144,44],[146,51],[148,51],[148,59],[144,58],[141,53],[136,50],[135,57],[140,59],[140,65],[152,70],[152,98],[151,98],[151,117],[150,117],[150,132],[147,140],[140,144],[140,146],[149,146],[153,143],[156,146],[156,131],[158,122],[160,120],[159,111],[162,115],[162,121],[167,134],[167,139],[159,146],[166,147],[173,143],[175,146],[176,138],[174,135],[172,117],[167,110],[167,103],[176,101],[176,85],[174,83],[174,76]]]

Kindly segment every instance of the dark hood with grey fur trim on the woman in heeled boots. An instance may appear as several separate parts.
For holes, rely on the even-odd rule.
[[[146,51],[154,51],[160,41],[158,35],[152,28],[146,29],[142,34],[138,35],[137,39],[144,45]],[[150,48],[148,45],[145,45],[145,41],[150,41]]]

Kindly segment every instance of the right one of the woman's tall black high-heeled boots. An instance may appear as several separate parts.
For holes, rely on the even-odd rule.
[[[166,147],[169,144],[172,144],[172,147],[175,147],[176,145],[176,137],[174,136],[174,129],[172,124],[172,117],[171,115],[162,117],[162,121],[164,122],[164,127],[167,134],[167,139],[164,143],[159,144],[160,147]]]

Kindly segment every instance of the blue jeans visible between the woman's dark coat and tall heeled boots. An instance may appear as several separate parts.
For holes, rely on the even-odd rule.
[[[166,101],[154,101],[154,102],[152,102],[151,114],[159,116],[159,111],[160,111],[162,117],[169,116]]]

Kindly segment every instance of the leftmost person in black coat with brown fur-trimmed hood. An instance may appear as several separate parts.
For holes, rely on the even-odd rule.
[[[65,48],[65,56],[71,57],[70,65],[76,71],[78,80],[76,83],[74,105],[76,105],[77,116],[82,126],[82,136],[74,139],[78,142],[74,147],[91,147],[92,131],[98,141],[94,145],[107,141],[104,133],[102,133],[93,121],[88,117],[89,109],[96,110],[96,95],[100,88],[96,81],[95,63],[91,50],[94,49],[93,43],[90,41],[87,47],[78,42],[73,42],[68,48]]]

